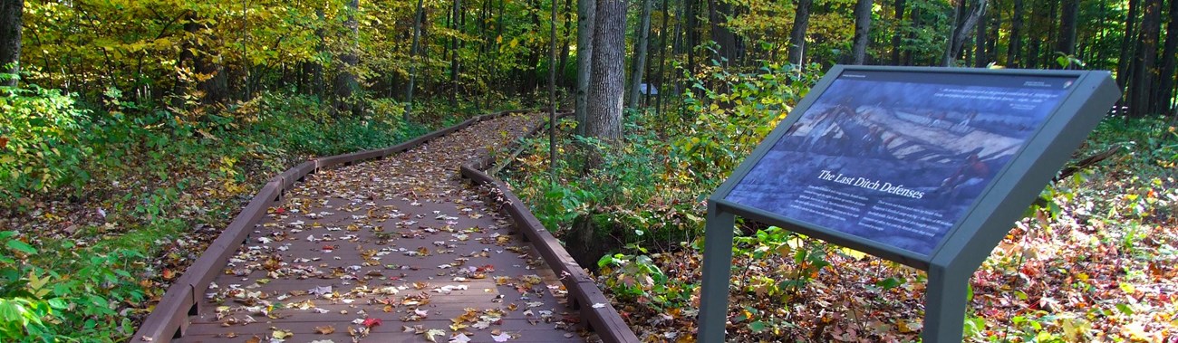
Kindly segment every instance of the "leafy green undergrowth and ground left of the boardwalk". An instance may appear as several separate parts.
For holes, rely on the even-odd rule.
[[[382,103],[333,117],[315,97],[283,93],[196,114],[117,89],[98,105],[35,86],[0,95],[0,148],[13,153],[0,156],[6,342],[126,341],[269,177],[461,119],[430,105],[421,120],[434,122],[406,125]]]

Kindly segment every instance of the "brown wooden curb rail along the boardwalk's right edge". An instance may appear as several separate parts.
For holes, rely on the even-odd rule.
[[[570,114],[571,112],[563,113],[561,116]],[[543,125],[537,126],[527,136],[536,135],[542,128],[544,128]],[[516,228],[536,247],[536,250],[548,262],[548,265],[552,268],[552,271],[561,276],[561,282],[569,291],[573,309],[581,311],[582,318],[588,321],[589,328],[603,342],[641,342],[634,331],[630,330],[630,327],[626,324],[626,321],[622,320],[622,316],[617,314],[617,310],[610,304],[609,298],[597,289],[597,283],[594,282],[593,277],[573,261],[573,256],[564,250],[564,246],[544,228],[540,220],[536,218],[536,215],[528,209],[528,206],[507,184],[481,170],[494,164],[494,162],[491,156],[484,156],[474,162],[465,163],[461,168],[462,176],[470,179],[476,184],[494,187],[492,190],[498,193],[499,202]]]

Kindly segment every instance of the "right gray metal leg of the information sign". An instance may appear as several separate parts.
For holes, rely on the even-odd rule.
[[[955,271],[952,269],[957,269]],[[946,268],[932,265],[928,269],[928,285],[925,289],[925,331],[921,338],[926,343],[961,342],[965,329],[965,308],[968,296],[971,273],[967,268]]]

